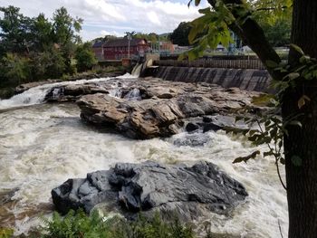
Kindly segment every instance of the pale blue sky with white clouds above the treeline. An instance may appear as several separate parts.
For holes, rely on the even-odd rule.
[[[198,8],[187,7],[188,0],[0,0],[0,6],[14,5],[21,13],[52,18],[55,9],[65,6],[72,16],[81,17],[82,39],[92,40],[106,34],[125,32],[170,33],[180,22],[191,21]],[[199,8],[207,6],[202,1]]]

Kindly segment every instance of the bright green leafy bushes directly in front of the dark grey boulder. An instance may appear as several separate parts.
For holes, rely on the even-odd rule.
[[[164,222],[159,214],[152,218],[139,216],[134,222],[120,217],[102,219],[97,211],[87,216],[70,211],[65,217],[54,213],[52,221],[44,220],[43,238],[194,238],[190,225],[178,219]]]

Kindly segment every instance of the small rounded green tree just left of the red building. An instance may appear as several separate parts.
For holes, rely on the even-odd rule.
[[[75,52],[75,59],[77,61],[77,71],[91,70],[97,64],[95,54],[91,51],[91,43],[83,43],[78,46]]]

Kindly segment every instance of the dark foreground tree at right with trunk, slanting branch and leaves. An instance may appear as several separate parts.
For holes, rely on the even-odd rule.
[[[195,1],[199,4],[199,0]],[[279,96],[282,108],[283,149],[285,159],[290,238],[312,238],[317,233],[317,1],[315,0],[208,0],[213,10],[202,9],[203,16],[193,22],[189,42],[199,32],[207,31],[188,52],[195,58],[219,39],[234,31],[264,62],[274,81],[283,88]],[[265,37],[253,13],[261,4],[268,14],[283,12],[293,6],[291,51],[283,66],[279,55]],[[314,59],[313,59],[314,58]],[[287,121],[296,117],[299,124]],[[299,127],[300,125],[300,127]]]

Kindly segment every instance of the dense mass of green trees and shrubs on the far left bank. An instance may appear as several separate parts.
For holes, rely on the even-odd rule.
[[[72,58],[82,19],[73,18],[66,8],[57,9],[53,22],[44,14],[30,18],[14,6],[0,7],[0,86],[15,87],[28,81],[73,74]],[[87,47],[85,48],[87,49]],[[83,58],[87,57],[86,62]],[[82,51],[82,67],[94,64],[91,52]]]

